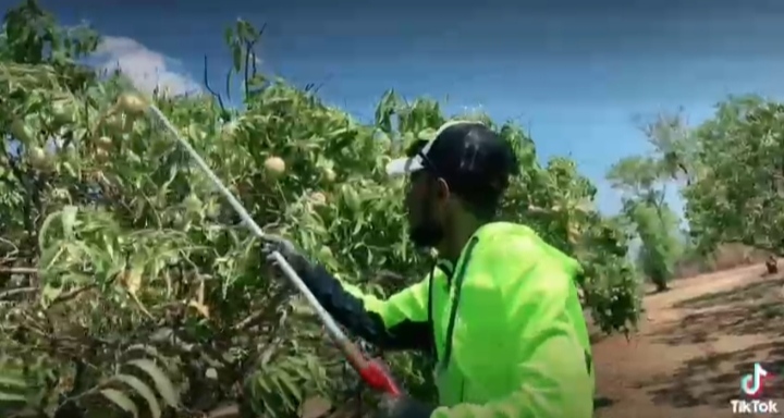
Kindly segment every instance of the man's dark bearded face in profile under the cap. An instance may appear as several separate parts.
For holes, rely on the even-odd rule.
[[[408,235],[418,247],[436,247],[444,237],[449,187],[425,170],[409,174],[405,196]]]

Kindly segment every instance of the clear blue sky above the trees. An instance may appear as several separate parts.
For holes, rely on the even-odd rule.
[[[212,78],[222,78],[226,25],[238,16],[267,23],[268,71],[302,85],[324,82],[322,97],[359,118],[394,88],[514,119],[540,156],[578,162],[599,185],[604,211],[618,208],[607,168],[647,147],[633,116],[683,107],[696,123],[728,94],[784,96],[784,2],[775,0],[41,3],[64,23],[86,20],[123,40],[106,48],[105,61],[144,66],[157,56],[158,77],[192,86],[205,53]]]

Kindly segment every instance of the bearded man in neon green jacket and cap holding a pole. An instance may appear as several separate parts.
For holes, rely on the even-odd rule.
[[[592,417],[580,268],[529,228],[494,220],[517,170],[510,144],[476,122],[448,123],[392,161],[390,174],[409,176],[411,238],[436,248],[439,262],[387,300],[342,284],[287,241],[266,243],[351,332],[436,355],[440,406],[388,397],[383,417]]]

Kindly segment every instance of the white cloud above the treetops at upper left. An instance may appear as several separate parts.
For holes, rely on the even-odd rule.
[[[91,60],[102,70],[118,67],[142,91],[154,88],[169,88],[173,95],[200,91],[201,86],[185,73],[175,71],[176,61],[156,52],[134,39],[126,37],[103,37]]]

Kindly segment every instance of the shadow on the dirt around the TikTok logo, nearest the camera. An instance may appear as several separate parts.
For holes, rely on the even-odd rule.
[[[775,342],[688,360],[674,376],[642,382],[640,389],[647,390],[657,405],[677,408],[726,406],[730,399],[742,397],[740,378],[754,369],[756,360],[774,374],[763,389],[763,395],[784,393],[784,382],[780,378],[784,371],[784,346]]]

